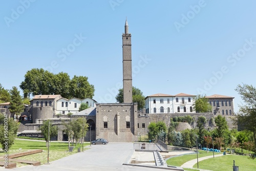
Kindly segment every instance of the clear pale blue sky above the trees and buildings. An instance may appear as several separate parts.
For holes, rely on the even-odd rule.
[[[0,83],[32,68],[87,76],[98,102],[122,88],[122,33],[132,33],[133,86],[145,96],[256,86],[255,1],[1,1]],[[79,38],[78,38],[79,37]],[[66,49],[66,51],[65,51]]]

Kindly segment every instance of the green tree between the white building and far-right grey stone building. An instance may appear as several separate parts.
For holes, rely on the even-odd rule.
[[[205,95],[203,96],[199,94],[194,98],[194,100],[193,110],[197,113],[211,112],[211,105]]]

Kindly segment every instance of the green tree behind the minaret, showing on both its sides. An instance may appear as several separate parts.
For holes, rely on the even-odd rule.
[[[145,106],[145,96],[140,89],[133,87],[133,102],[138,103],[138,110],[142,110]],[[123,89],[118,90],[118,94],[116,96],[116,101],[119,103],[123,103]]]

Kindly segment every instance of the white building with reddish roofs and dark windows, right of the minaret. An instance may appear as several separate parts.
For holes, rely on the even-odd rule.
[[[150,95],[145,98],[146,113],[195,113],[192,106],[194,97],[184,93]]]

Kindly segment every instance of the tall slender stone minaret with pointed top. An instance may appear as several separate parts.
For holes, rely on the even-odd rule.
[[[133,102],[133,84],[132,84],[132,35],[129,33],[127,19],[124,25],[123,38],[123,102]]]

